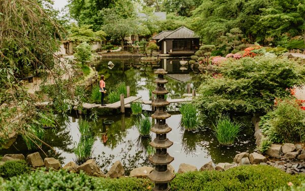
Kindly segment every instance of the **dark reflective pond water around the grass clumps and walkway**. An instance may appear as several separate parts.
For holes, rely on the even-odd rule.
[[[181,59],[179,59],[181,60]],[[159,63],[141,63],[139,59],[109,58],[103,59],[95,65],[99,74],[106,77],[106,86],[111,87],[119,81],[125,83],[131,88],[131,95],[142,96],[142,99],[149,99],[148,91],[154,90],[154,70],[164,68],[168,74],[187,74],[185,78],[179,78],[178,75],[167,77],[169,83],[166,84],[169,90],[168,98],[180,98],[186,93],[188,83],[191,83],[194,89],[200,85],[200,77],[190,66],[187,69],[182,68],[178,59],[162,60]],[[114,67],[109,69],[107,63],[112,61]],[[186,81],[186,79],[190,79]],[[149,106],[148,106],[149,108]],[[180,163],[190,163],[200,168],[204,163],[212,160],[214,163],[232,162],[234,156],[239,152],[253,152],[255,150],[255,140],[253,137],[253,128],[251,126],[251,117],[240,117],[239,121],[244,121],[247,128],[243,128],[238,140],[233,146],[221,146],[210,128],[205,125],[202,129],[195,132],[188,132],[179,126],[181,115],[175,112],[176,105],[171,106],[172,116],[166,120],[172,128],[168,133],[168,138],[174,144],[168,149],[168,153],[174,157],[171,165],[177,171]],[[111,113],[111,112],[110,112]],[[73,161],[73,145],[79,141],[80,133],[78,130],[78,116],[72,113],[68,119],[67,126],[58,127],[57,130],[47,130],[45,142],[52,146],[54,150],[43,146],[44,152],[49,157],[58,158],[63,164]],[[147,163],[148,154],[146,148],[151,138],[139,139],[139,133],[134,126],[136,116],[127,111],[126,114],[99,116],[99,121],[94,128],[96,141],[94,144],[93,157],[103,169],[110,168],[115,160],[123,162],[127,168],[132,169],[136,166],[149,165]],[[105,120],[112,120],[114,123],[105,125]],[[206,119],[207,124],[214,122],[213,119]],[[28,151],[19,136],[17,141],[9,148],[0,150],[0,155],[7,153],[23,153],[27,155],[34,151]],[[39,151],[43,157],[42,151]]]

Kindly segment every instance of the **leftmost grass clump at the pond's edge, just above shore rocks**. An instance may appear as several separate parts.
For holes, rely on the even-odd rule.
[[[31,124],[21,136],[28,150],[37,150],[42,146],[45,130],[39,125]]]

